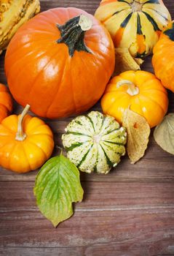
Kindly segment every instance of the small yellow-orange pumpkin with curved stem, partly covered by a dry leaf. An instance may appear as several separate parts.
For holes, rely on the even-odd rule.
[[[114,77],[101,100],[103,113],[122,123],[124,110],[144,116],[150,127],[162,121],[168,107],[167,91],[155,75],[146,71],[127,71]]]

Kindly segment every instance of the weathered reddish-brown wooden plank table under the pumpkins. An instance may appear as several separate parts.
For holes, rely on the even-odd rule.
[[[93,14],[98,4],[99,0],[43,0],[41,10],[79,7]],[[173,0],[165,4],[174,18]],[[150,57],[143,69],[152,71]],[[4,54],[0,81],[6,83]],[[100,103],[93,109],[100,110]],[[20,110],[16,105],[15,113]],[[169,112],[173,111],[170,93]],[[70,120],[47,121],[60,146]],[[56,229],[36,207],[36,173],[0,170],[0,255],[174,255],[174,157],[162,151],[152,136],[137,164],[130,165],[124,157],[107,176],[81,173],[84,200],[76,204],[74,216]]]

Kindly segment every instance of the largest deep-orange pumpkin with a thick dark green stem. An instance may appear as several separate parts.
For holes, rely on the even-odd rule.
[[[59,118],[98,101],[114,60],[114,44],[100,21],[76,8],[55,8],[17,31],[7,48],[5,70],[20,105]]]

